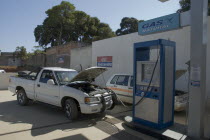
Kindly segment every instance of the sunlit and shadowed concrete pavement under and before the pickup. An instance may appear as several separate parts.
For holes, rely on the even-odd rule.
[[[69,121],[59,108],[40,103],[19,106],[16,96],[0,91],[0,140],[136,140],[154,139],[127,128],[122,118],[131,107],[117,106],[106,115],[82,115]]]

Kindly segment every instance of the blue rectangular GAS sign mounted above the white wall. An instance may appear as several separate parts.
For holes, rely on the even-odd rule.
[[[171,15],[140,22],[138,25],[139,35],[147,35],[180,28],[180,15]]]

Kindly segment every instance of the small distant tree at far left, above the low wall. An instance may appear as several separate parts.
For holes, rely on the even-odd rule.
[[[28,58],[27,51],[24,46],[17,46],[14,55],[21,60],[26,60]]]

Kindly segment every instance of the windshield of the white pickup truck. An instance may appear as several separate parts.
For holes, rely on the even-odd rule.
[[[78,73],[76,71],[55,71],[59,84],[68,84]]]

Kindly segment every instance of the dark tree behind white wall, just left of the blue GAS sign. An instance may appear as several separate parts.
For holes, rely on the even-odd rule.
[[[117,29],[115,34],[117,36],[130,34],[138,32],[138,23],[143,22],[143,20],[138,21],[136,18],[124,17],[120,23],[120,29]]]

